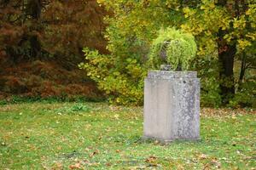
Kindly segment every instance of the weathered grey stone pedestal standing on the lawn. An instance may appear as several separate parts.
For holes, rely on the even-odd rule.
[[[144,88],[145,139],[200,139],[200,79],[195,71],[149,71]]]

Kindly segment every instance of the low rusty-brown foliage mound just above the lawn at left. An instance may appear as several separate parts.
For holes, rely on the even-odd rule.
[[[77,96],[95,98],[101,95],[94,82],[84,80],[84,72],[67,71],[54,62],[34,61],[3,69],[0,77],[0,98],[10,95],[26,97],[59,97],[73,99]]]

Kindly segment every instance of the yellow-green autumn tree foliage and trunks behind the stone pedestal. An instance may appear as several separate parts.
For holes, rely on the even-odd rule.
[[[250,74],[245,77],[245,72],[249,72],[247,69],[255,67],[254,1],[99,0],[98,2],[113,11],[113,16],[106,18],[109,24],[106,37],[111,56],[104,57],[113,59],[108,65],[108,68],[111,68],[110,72],[105,75],[112,77],[112,82],[117,84],[120,82],[120,86],[126,84],[128,87],[138,89],[137,85],[141,82],[137,83],[133,77],[145,74],[137,74],[129,68],[147,70],[145,62],[148,59],[150,44],[157,36],[157,32],[161,28],[175,26],[195,36],[199,50],[190,69],[199,71],[202,78],[202,99],[206,105],[243,103],[232,99],[235,94],[240,94],[242,86],[254,79]],[[99,65],[104,64],[99,61]],[[238,74],[234,72],[237,68],[234,65],[241,65]],[[87,68],[93,66],[88,65]],[[121,75],[118,79],[113,77],[117,72]],[[143,78],[136,80],[143,81]],[[108,84],[108,80],[104,83]],[[125,98],[124,92],[120,89],[110,91]],[[244,97],[253,99],[254,88],[251,87],[249,91],[251,94],[243,92]],[[143,95],[138,96],[141,97],[137,100],[141,100]]]

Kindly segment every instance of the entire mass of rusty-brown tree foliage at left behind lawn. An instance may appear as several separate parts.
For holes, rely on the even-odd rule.
[[[108,53],[105,14],[95,0],[0,1],[2,98],[99,94],[77,65],[83,47]]]

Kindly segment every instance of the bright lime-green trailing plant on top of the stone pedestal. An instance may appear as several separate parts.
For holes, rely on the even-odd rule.
[[[149,54],[149,65],[159,69],[160,65],[172,65],[175,71],[188,70],[190,62],[195,58],[195,38],[173,28],[160,30],[154,39]]]

